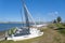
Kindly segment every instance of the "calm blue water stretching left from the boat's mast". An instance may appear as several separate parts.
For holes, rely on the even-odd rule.
[[[0,24],[0,31],[8,30],[14,27],[22,27],[23,24]]]

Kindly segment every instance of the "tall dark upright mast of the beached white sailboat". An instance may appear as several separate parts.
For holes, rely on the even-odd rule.
[[[27,33],[29,33],[29,17],[28,17],[28,10],[26,8],[26,4],[24,2],[24,0],[22,0],[23,2],[23,9],[24,9],[24,15],[25,15],[25,22],[26,22],[26,28],[27,28]]]

